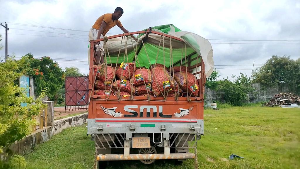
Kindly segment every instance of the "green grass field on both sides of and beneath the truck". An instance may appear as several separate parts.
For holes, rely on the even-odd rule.
[[[226,106],[224,106],[226,107]],[[260,106],[205,110],[204,136],[198,142],[199,168],[300,168],[300,109]],[[229,160],[231,154],[244,159]],[[86,127],[64,130],[26,155],[29,169],[93,167],[94,144]],[[113,161],[110,168],[194,168],[193,160],[174,165],[171,161]]]

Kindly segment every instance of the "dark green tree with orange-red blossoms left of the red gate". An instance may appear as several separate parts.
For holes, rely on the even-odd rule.
[[[43,88],[47,88],[46,95],[49,98],[54,98],[58,90],[64,85],[64,72],[58,66],[58,63],[50,57],[35,59],[31,53],[28,53],[17,62],[21,66],[21,72],[34,77],[37,97],[41,94]]]

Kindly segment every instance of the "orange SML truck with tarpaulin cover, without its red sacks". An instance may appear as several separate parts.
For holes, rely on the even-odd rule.
[[[130,35],[136,35],[138,41]],[[186,68],[184,73],[191,70],[199,85],[198,96],[191,97],[184,90],[172,97],[153,97],[149,93],[122,96],[118,92],[111,94],[110,85],[108,94],[95,94],[95,78],[100,71],[94,66],[98,65],[94,57],[97,42],[104,43],[104,65],[113,68],[134,62],[136,69],[151,69],[152,63],[158,63],[171,72],[176,66]],[[99,168],[107,167],[108,161],[140,160],[151,164],[159,159],[180,162],[195,158],[197,140],[204,134],[205,76],[213,70],[208,40],[173,25],[163,25],[92,40],[89,56],[88,134],[95,140]]]

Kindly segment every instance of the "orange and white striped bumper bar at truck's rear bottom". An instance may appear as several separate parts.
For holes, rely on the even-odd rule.
[[[166,156],[164,154],[106,154],[97,155],[97,161],[119,161],[119,160],[171,160],[171,159],[193,159],[194,153],[174,153]]]

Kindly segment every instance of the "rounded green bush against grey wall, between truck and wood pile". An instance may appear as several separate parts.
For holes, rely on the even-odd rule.
[[[230,81],[228,78],[218,81],[217,94],[226,103],[234,106],[242,106],[249,101],[248,94],[254,94],[254,88],[251,86],[251,80],[247,74],[237,77]]]

